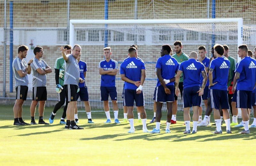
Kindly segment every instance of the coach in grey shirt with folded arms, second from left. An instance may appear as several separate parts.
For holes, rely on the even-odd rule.
[[[31,125],[36,125],[35,122],[35,112],[36,105],[39,101],[38,112],[39,121],[38,124],[49,124],[43,119],[44,115],[44,105],[45,100],[47,100],[47,90],[46,90],[46,74],[51,73],[52,69],[47,65],[47,63],[40,59],[43,58],[44,52],[42,47],[34,48],[35,58],[33,63],[31,63],[31,68],[33,71],[33,100],[30,106],[31,114]]]

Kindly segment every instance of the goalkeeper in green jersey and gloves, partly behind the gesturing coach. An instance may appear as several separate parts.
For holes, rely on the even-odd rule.
[[[66,54],[71,54],[72,47],[70,45],[64,46],[64,49],[67,49],[65,52]],[[56,112],[60,109],[62,105],[65,104],[65,89],[64,89],[64,73],[65,73],[65,65],[64,65],[64,59],[61,56],[60,58],[57,58],[54,65],[55,69],[55,81],[56,81],[56,92],[58,93],[58,99],[59,102],[54,106],[54,109],[50,115],[49,122],[53,123],[53,119],[56,115]],[[66,105],[63,110],[62,117],[60,118],[60,124],[66,124],[65,118],[66,118],[66,111],[68,107],[68,102],[66,101]]]

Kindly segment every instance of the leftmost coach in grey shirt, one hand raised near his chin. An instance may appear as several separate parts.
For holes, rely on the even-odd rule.
[[[13,125],[29,125],[22,119],[22,105],[27,99],[28,95],[28,76],[31,73],[29,66],[33,60],[28,61],[28,65],[23,58],[26,58],[28,53],[27,46],[20,46],[18,48],[18,56],[12,61],[12,70],[15,78],[16,101],[13,106],[14,123]],[[12,86],[12,85],[11,85]]]

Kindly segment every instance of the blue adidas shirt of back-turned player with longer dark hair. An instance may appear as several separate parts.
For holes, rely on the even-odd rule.
[[[228,58],[218,57],[211,61],[210,69],[212,72],[212,83],[216,83],[211,86],[210,89],[227,90],[228,89],[228,72],[230,68],[230,61]]]

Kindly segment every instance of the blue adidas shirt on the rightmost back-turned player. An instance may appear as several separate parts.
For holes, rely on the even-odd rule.
[[[237,80],[237,90],[252,91],[256,83],[256,61],[249,56],[244,57],[238,62],[235,72],[240,73]]]

